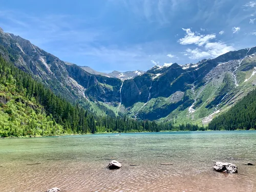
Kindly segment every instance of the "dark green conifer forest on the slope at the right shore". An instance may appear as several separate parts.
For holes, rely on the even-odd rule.
[[[213,119],[209,130],[256,129],[256,90],[235,104],[229,111]]]

